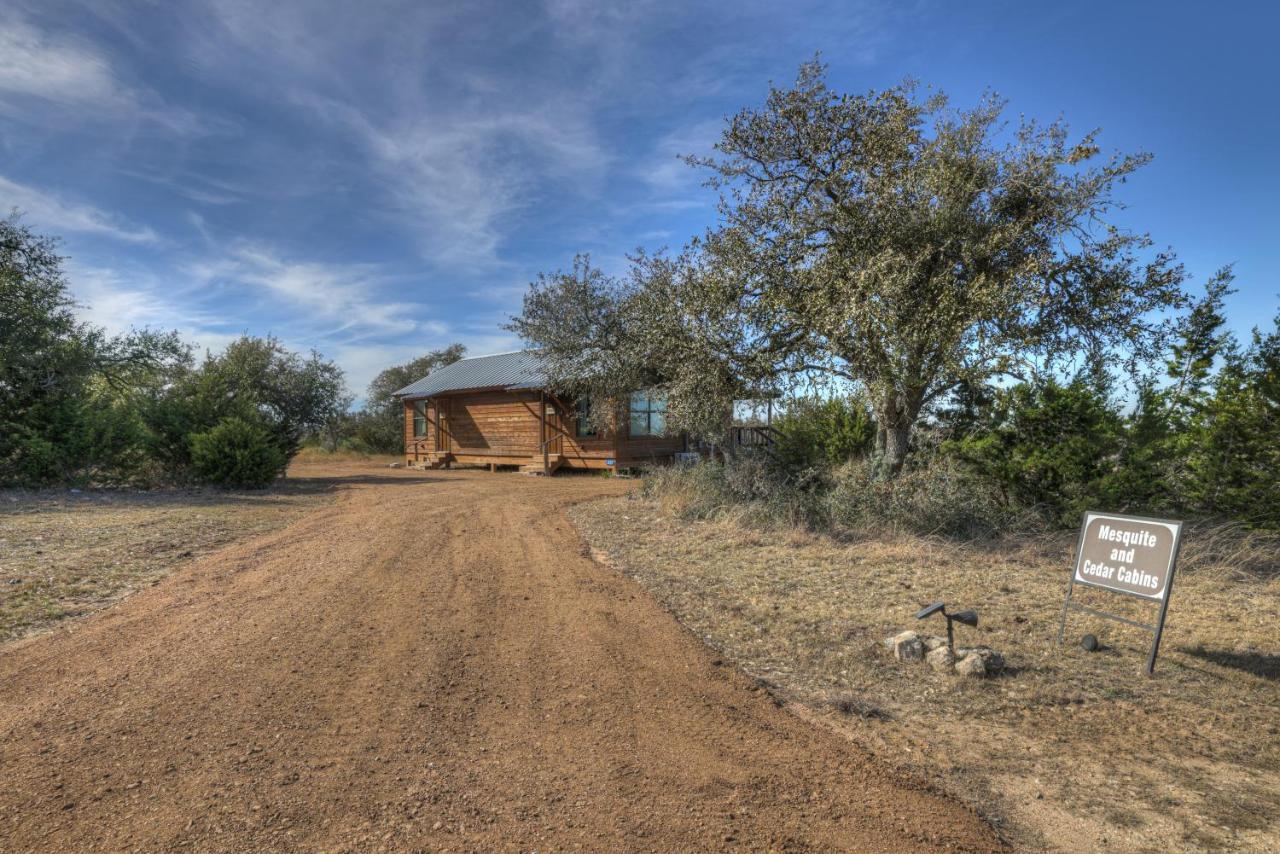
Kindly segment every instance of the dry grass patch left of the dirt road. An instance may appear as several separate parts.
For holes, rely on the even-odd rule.
[[[0,492],[0,641],[84,615],[228,543],[330,499],[319,483],[264,492]]]

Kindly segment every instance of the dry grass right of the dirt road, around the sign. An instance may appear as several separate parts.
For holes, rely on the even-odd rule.
[[[1073,534],[850,544],[678,521],[643,498],[573,515],[712,647],[884,755],[942,772],[1025,846],[1280,848],[1277,538],[1188,531],[1148,680],[1138,630],[1073,615],[1053,644]],[[936,599],[979,609],[959,639],[1002,650],[1006,676],[891,659],[881,640]],[[1153,618],[1100,590],[1080,600]],[[1085,631],[1106,648],[1080,649]]]

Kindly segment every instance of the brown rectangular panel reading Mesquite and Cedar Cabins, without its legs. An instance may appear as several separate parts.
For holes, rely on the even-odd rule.
[[[1181,522],[1158,519],[1085,513],[1075,554],[1076,584],[1164,600],[1181,529]]]

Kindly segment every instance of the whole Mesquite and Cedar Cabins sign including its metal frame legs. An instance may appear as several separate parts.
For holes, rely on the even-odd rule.
[[[1094,617],[1135,626],[1152,635],[1151,654],[1144,668],[1147,676],[1152,676],[1156,672],[1160,636],[1165,631],[1169,594],[1174,586],[1174,565],[1178,562],[1181,539],[1181,522],[1092,511],[1084,513],[1080,540],[1075,548],[1075,570],[1066,585],[1062,617],[1057,626],[1059,645],[1062,644],[1066,632],[1069,611],[1082,611]],[[1156,625],[1151,626],[1073,602],[1071,593],[1076,584],[1146,602],[1158,602],[1160,616],[1156,618]]]

